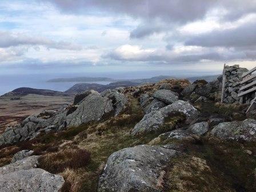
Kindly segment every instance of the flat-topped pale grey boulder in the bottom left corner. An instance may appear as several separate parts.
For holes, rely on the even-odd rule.
[[[0,175],[0,191],[58,192],[64,182],[61,175],[50,174],[42,169],[19,170]]]

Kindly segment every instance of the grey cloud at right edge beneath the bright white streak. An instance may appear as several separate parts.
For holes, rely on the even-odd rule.
[[[235,29],[214,30],[190,37],[185,45],[203,47],[248,47],[256,46],[256,22],[246,23]]]

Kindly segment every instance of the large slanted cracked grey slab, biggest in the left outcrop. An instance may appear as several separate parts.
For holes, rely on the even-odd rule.
[[[88,95],[74,113],[67,115],[67,127],[79,126],[90,121],[99,121],[103,115],[114,110],[112,100],[99,94]]]

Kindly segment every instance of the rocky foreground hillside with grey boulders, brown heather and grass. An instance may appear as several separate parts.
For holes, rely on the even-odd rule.
[[[255,191],[255,113],[219,103],[220,87],[165,79],[79,93],[0,135],[0,174],[9,189],[23,171],[55,191]]]

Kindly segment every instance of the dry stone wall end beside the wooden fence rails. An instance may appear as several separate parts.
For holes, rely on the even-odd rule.
[[[225,81],[225,97],[224,103],[239,103],[237,97],[241,85],[239,82],[242,80],[241,76],[247,72],[246,68],[241,68],[239,65],[225,66],[224,73],[226,77]],[[255,97],[255,94],[247,94],[243,99],[243,103],[250,103],[251,99]]]

